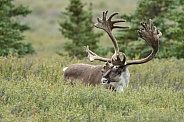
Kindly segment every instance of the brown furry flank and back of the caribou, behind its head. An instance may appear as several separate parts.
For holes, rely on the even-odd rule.
[[[73,64],[64,71],[64,79],[75,82],[81,80],[85,85],[101,84],[102,68],[100,65],[89,64]],[[109,88],[108,84],[104,84],[105,88]]]

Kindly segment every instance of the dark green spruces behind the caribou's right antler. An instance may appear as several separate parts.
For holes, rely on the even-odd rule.
[[[183,0],[139,0],[134,13],[121,16],[130,23],[130,30],[119,32],[120,50],[128,56],[145,57],[151,49],[138,39],[140,22],[152,19],[163,33],[160,39],[159,58],[184,58],[184,2]],[[128,45],[128,46],[127,46]]]

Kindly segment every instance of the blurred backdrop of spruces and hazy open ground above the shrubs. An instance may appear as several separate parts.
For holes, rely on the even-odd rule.
[[[130,26],[113,33],[128,58],[150,54],[152,49],[137,33],[140,23],[149,23],[149,19],[162,32],[156,57],[184,58],[183,0],[2,0],[0,55],[23,57],[36,52],[31,56],[59,54],[82,59],[86,58],[83,47],[89,45],[98,55],[106,56],[113,53],[112,42],[104,31],[94,28],[96,18],[106,10],[107,16],[119,12],[113,19],[125,19],[121,25]]]

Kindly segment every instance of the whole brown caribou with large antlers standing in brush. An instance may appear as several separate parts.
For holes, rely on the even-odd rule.
[[[129,28],[127,26],[115,25],[120,22],[126,22],[123,19],[112,20],[118,13],[115,12],[107,17],[108,11],[103,12],[102,19],[97,18],[97,23],[94,24],[96,28],[104,30],[110,37],[113,46],[114,54],[111,58],[100,57],[85,47],[89,60],[99,60],[105,62],[104,65],[89,65],[89,64],[73,64],[65,67],[64,79],[75,82],[82,81],[84,84],[97,85],[103,84],[107,89],[113,89],[116,92],[123,92],[124,87],[128,87],[130,73],[128,70],[129,65],[143,64],[152,60],[159,50],[159,39],[162,33],[154,26],[152,20],[149,20],[149,25],[140,23],[142,28],[138,30],[139,36],[152,47],[152,52],[145,58],[138,60],[127,60],[126,55],[119,51],[116,38],[112,34],[115,28]]]

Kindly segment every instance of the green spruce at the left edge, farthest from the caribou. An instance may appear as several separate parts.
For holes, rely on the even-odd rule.
[[[34,53],[34,50],[30,43],[22,42],[22,33],[29,28],[26,24],[20,24],[18,17],[27,16],[31,11],[22,5],[15,7],[12,1],[0,1],[0,56],[16,53],[22,57]]]

